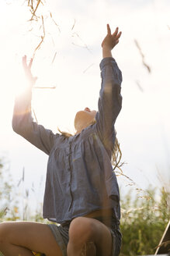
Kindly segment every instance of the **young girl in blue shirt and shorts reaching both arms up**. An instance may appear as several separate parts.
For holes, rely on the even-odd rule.
[[[47,256],[119,255],[120,194],[111,158],[114,124],[122,105],[122,75],[111,51],[120,35],[118,28],[111,34],[107,24],[99,109],[77,112],[76,133],[71,137],[54,134],[33,122],[31,94],[36,78],[30,71],[33,60],[27,66],[23,57],[29,87],[22,98],[16,98],[12,127],[49,155],[43,218],[54,224],[1,223],[0,251],[5,256],[29,256],[33,251]]]

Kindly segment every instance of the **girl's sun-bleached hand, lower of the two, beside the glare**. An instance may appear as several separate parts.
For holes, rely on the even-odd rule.
[[[29,82],[29,86],[33,87],[34,84],[36,84],[37,77],[34,77],[31,73],[31,66],[33,64],[33,59],[30,59],[29,65],[26,63],[26,55],[23,56],[23,69],[26,74],[26,79]]]

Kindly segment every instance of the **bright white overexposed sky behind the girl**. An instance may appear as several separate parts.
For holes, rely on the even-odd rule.
[[[169,11],[168,0],[49,0],[37,9],[37,15],[43,15],[45,37],[32,71],[38,77],[36,87],[56,89],[33,89],[33,109],[38,123],[54,133],[57,127],[74,132],[75,113],[85,107],[97,109],[106,23],[122,31],[113,49],[123,73],[123,108],[116,132],[126,162],[123,173],[136,183],[132,190],[168,187],[170,180]],[[43,36],[41,18],[30,18],[26,2],[0,2],[0,157],[9,163],[15,183],[25,169],[24,189],[34,187],[35,201],[42,201],[47,155],[14,133],[11,125],[15,95],[26,85],[22,56],[32,58]],[[131,187],[123,176],[118,183],[121,194]]]

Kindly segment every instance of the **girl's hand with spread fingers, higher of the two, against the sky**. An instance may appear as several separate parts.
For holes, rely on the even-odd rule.
[[[122,32],[118,33],[118,30],[119,28],[116,27],[114,33],[111,34],[109,24],[107,24],[107,35],[102,41],[102,48],[106,48],[107,50],[111,51],[115,47],[115,45],[119,43],[119,38]]]

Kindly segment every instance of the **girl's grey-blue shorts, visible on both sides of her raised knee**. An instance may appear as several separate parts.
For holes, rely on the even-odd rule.
[[[122,235],[120,233],[119,225],[113,217],[105,217],[105,221],[103,221],[102,217],[93,218],[97,219],[100,222],[104,223],[109,227],[110,233],[112,236],[112,256],[118,256],[120,254],[121,240]],[[52,233],[54,234],[55,240],[57,244],[61,248],[62,255],[67,256],[67,246],[68,246],[68,230],[71,222],[68,222],[64,226],[57,226],[57,224],[47,224],[50,227]],[[109,225],[107,225],[109,223]]]

